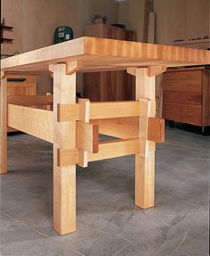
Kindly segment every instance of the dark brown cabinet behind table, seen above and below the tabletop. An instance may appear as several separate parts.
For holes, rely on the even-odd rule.
[[[133,31],[106,24],[95,24],[86,27],[85,36],[129,41],[135,39]],[[125,70],[85,73],[84,96],[92,102],[134,100],[134,78],[127,74]]]

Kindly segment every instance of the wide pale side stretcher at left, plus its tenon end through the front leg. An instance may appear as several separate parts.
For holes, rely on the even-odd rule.
[[[53,112],[8,104],[8,126],[53,143]],[[98,125],[77,121],[77,148],[90,153],[99,151]]]

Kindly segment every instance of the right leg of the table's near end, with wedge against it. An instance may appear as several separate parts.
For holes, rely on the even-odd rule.
[[[147,140],[148,117],[156,114],[155,76],[148,68],[135,70],[136,100],[141,101],[139,126],[140,153],[135,155],[135,204],[143,209],[154,206],[155,143]]]

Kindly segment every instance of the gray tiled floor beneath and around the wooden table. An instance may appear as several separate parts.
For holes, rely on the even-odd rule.
[[[1,255],[206,256],[210,136],[166,128],[156,206],[134,206],[133,156],[77,167],[77,232],[52,229],[52,145],[9,136],[1,177]]]

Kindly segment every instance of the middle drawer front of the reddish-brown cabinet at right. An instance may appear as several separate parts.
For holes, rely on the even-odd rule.
[[[164,91],[164,103],[183,103],[201,105],[202,95],[194,92],[170,92]]]

